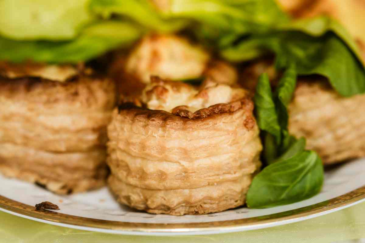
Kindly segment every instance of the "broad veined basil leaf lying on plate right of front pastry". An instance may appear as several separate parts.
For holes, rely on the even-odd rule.
[[[316,195],[323,184],[323,165],[313,151],[303,151],[264,168],[246,196],[249,208],[295,203]]]

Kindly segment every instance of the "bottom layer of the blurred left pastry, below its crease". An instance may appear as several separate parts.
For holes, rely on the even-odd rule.
[[[11,143],[0,143],[0,171],[44,185],[59,194],[81,192],[105,184],[105,149],[55,153]]]

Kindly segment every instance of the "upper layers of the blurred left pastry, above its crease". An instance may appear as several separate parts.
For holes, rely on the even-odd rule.
[[[54,152],[105,146],[115,102],[107,79],[0,78],[0,142]]]

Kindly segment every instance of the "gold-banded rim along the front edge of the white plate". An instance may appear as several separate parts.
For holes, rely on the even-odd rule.
[[[86,227],[107,230],[115,234],[122,233],[188,233],[188,232],[203,232],[203,231],[219,231],[233,232],[243,231],[247,228],[255,226],[255,228],[264,228],[290,222],[291,220],[299,221],[299,219],[319,216],[325,213],[334,211],[354,204],[365,199],[365,185],[341,196],[335,197],[302,208],[297,208],[285,212],[274,213],[270,215],[250,217],[245,219],[225,220],[216,222],[204,223],[130,223],[111,220],[92,219],[87,217],[79,217],[58,213],[49,210],[36,211],[35,207],[20,203],[0,195],[0,208],[7,211],[17,213],[21,216],[27,216],[30,219],[40,219],[49,223],[67,224],[76,227]],[[201,233],[200,233],[201,234]]]

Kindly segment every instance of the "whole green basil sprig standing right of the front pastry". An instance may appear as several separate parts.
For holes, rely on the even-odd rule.
[[[255,110],[268,166],[254,177],[247,192],[247,206],[250,208],[301,201],[316,195],[322,187],[323,165],[318,154],[305,150],[304,138],[297,140],[288,132],[287,106],[295,83],[296,68],[293,64],[284,72],[274,94],[267,75],[262,74],[259,78]]]

